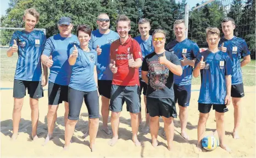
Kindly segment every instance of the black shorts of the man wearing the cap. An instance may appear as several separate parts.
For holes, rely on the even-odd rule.
[[[48,83],[48,104],[58,105],[63,101],[68,102],[69,86],[59,85],[49,81]]]

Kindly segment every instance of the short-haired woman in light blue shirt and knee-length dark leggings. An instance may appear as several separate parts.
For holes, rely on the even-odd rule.
[[[87,25],[77,26],[77,37],[80,45],[74,45],[69,52],[69,64],[72,74],[69,84],[69,116],[65,127],[65,146],[68,149],[83,100],[90,119],[90,148],[93,151],[99,127],[99,98],[97,90],[97,52],[88,48],[91,39],[91,28]]]

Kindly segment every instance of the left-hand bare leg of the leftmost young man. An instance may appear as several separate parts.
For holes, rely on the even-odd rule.
[[[13,107],[13,135],[12,140],[15,140],[18,137],[19,123],[21,118],[21,109],[23,106],[24,98],[14,98],[14,107]]]

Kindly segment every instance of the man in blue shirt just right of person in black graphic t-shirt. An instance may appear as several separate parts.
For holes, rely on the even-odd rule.
[[[181,136],[189,139],[186,133],[187,126],[187,107],[190,104],[191,79],[194,61],[199,53],[198,45],[186,38],[187,28],[185,20],[174,22],[174,33],[176,40],[166,45],[166,50],[174,52],[181,62],[183,73],[181,76],[174,75],[174,95],[175,102],[179,104],[179,117],[181,122]]]

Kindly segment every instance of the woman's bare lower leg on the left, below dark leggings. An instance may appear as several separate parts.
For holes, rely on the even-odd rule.
[[[66,126],[65,126],[65,146],[64,150],[69,149],[69,144],[71,141],[71,138],[73,136],[73,133],[75,131],[75,126],[78,120],[69,120],[66,121]]]

